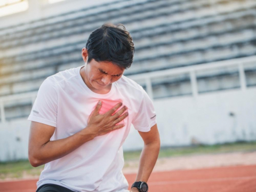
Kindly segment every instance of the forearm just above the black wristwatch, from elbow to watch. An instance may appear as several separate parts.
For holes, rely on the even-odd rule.
[[[159,142],[153,142],[144,145],[140,155],[139,171],[135,181],[148,181],[149,176],[156,164],[159,150]]]

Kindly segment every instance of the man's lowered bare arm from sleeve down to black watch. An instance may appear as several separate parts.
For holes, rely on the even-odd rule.
[[[135,181],[147,182],[160,150],[160,137],[157,129],[157,124],[151,127],[149,132],[139,131],[143,141],[144,147],[140,156],[139,171]],[[132,188],[131,191],[138,191],[137,188]]]

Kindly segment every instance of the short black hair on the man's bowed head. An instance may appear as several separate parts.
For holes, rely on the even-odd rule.
[[[86,49],[87,63],[92,59],[97,62],[109,61],[123,69],[132,65],[134,44],[130,33],[122,24],[105,23],[95,29],[87,40]]]

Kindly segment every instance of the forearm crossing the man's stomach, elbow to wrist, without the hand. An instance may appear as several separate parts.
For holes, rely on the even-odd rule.
[[[95,136],[92,135],[88,129],[83,129],[65,139],[48,141],[36,151],[34,164],[35,166],[39,166],[61,158],[71,153],[85,142],[92,140],[94,137]]]

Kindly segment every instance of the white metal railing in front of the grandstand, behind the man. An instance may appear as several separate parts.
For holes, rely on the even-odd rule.
[[[244,65],[246,63],[251,63],[251,62],[256,63],[256,56],[232,59],[232,60],[226,60],[226,61],[211,62],[211,63],[202,64],[202,65],[167,69],[163,71],[155,71],[155,72],[150,72],[145,74],[131,75],[127,77],[133,79],[134,81],[145,82],[147,93],[149,97],[153,100],[153,89],[152,89],[152,83],[151,83],[152,78],[178,75],[178,74],[184,74],[184,73],[190,74],[191,92],[193,93],[193,97],[197,97],[198,89],[197,89],[196,71],[209,70],[213,68],[220,68],[220,67],[227,67],[227,66],[237,66],[237,69],[239,71],[239,81],[241,85],[241,90],[245,91],[246,79],[245,79],[245,73],[244,73]],[[1,123],[4,123],[6,121],[5,111],[4,111],[4,105],[6,101],[14,101],[14,100],[30,98],[31,103],[34,104],[36,95],[37,95],[37,91],[0,97]]]

